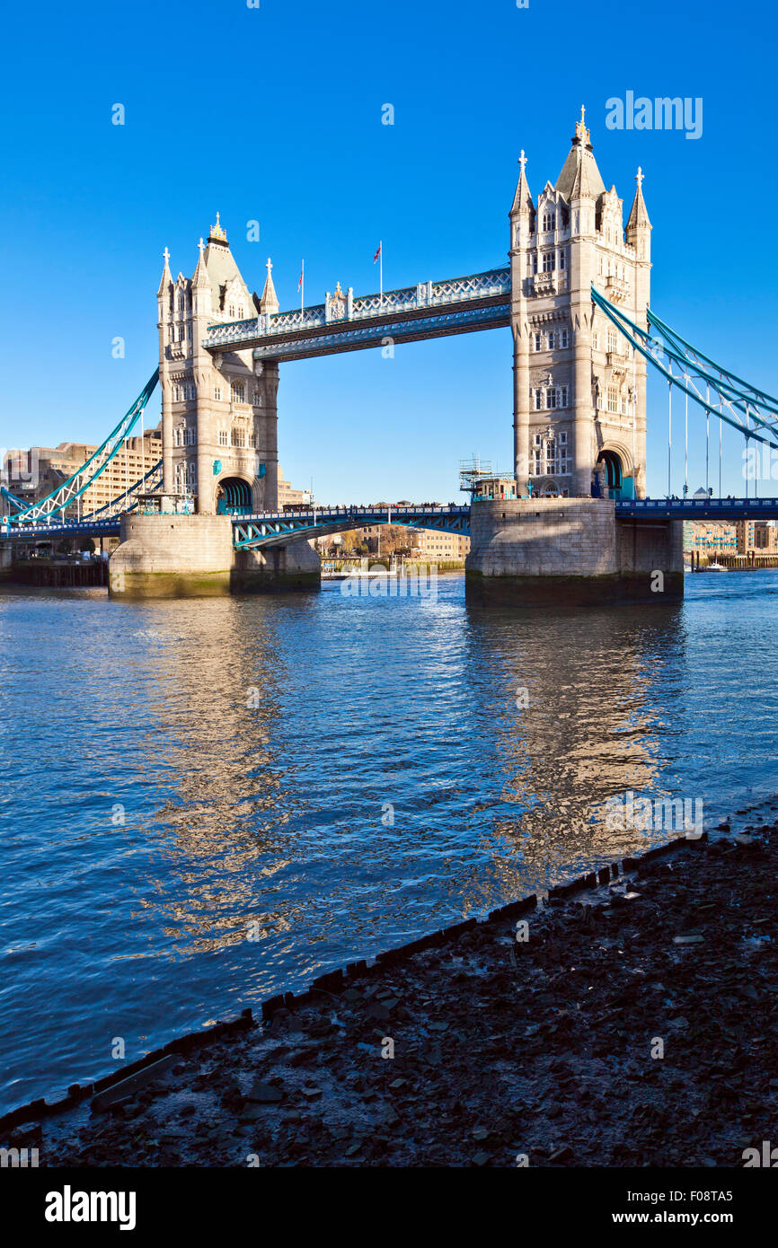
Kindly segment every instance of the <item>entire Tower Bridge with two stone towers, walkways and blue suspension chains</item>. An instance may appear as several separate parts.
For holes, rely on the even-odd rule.
[[[217,213],[191,277],[172,276],[165,250],[150,382],[47,498],[26,504],[2,489],[5,545],[40,533],[120,532],[112,593],[207,593],[316,584],[311,538],[393,522],[470,533],[468,584],[503,599],[574,590],[581,600],[652,600],[656,570],[666,574],[666,597],[682,594],[684,518],[778,515],[774,499],[721,498],[721,431],[738,429],[747,449],[753,442],[778,451],[778,401],[699,352],[651,307],[642,183],[638,168],[624,223],[582,110],[556,182],[547,180],[537,197],[521,154],[507,265],[366,296],[338,282],[323,303],[286,312],[270,261],[261,296],[250,290]],[[471,507],[280,510],[281,364],[495,328],[511,331],[508,479],[488,489],[476,483]],[[702,504],[672,498],[669,478],[666,499],[646,498],[649,371],[667,383],[668,444],[673,397],[683,401],[684,428],[689,403],[704,416],[707,466],[711,422],[718,429],[718,495]],[[157,378],[161,462],[100,513],[64,520],[142,419]]]

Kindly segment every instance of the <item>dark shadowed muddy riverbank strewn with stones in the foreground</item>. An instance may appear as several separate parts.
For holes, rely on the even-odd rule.
[[[44,1122],[40,1164],[743,1166],[778,1109],[777,810],[276,998]]]

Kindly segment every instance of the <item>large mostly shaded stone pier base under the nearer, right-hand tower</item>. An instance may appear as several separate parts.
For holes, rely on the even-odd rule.
[[[475,602],[597,607],[683,598],[683,522],[622,520],[609,499],[473,499]]]

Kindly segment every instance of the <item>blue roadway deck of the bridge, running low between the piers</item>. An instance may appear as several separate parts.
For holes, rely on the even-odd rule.
[[[548,502],[548,500],[544,500]],[[616,503],[618,519],[642,523],[656,520],[759,520],[778,519],[778,498],[639,498]],[[327,533],[375,524],[405,524],[408,528],[470,533],[470,505],[451,507],[317,507],[298,512],[262,512],[234,515],[235,545],[281,545],[290,539],[323,537]],[[0,540],[41,542],[69,537],[119,537],[119,517],[90,520],[61,520],[45,524],[4,525]]]

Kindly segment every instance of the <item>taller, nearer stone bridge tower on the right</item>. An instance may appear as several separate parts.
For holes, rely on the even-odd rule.
[[[643,176],[623,226],[606,190],[584,110],[572,147],[537,203],[521,154],[511,207],[513,442],[519,497],[629,498],[646,493],[646,361],[594,313],[594,286],[642,327],[651,222]]]

